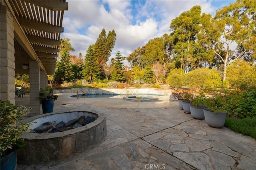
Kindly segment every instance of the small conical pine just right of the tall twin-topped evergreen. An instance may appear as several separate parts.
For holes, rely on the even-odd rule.
[[[123,57],[120,51],[117,51],[116,53],[115,62],[114,62],[114,72],[111,76],[112,76],[112,80],[119,81],[119,82],[125,81],[124,63],[123,63]]]

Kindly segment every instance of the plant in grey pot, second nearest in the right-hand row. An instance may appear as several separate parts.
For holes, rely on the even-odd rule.
[[[196,95],[192,100],[190,106],[190,113],[192,117],[195,119],[203,119],[204,118],[204,111],[203,109],[206,108],[204,105],[204,100],[206,99],[206,96],[204,93],[200,93],[199,95]]]

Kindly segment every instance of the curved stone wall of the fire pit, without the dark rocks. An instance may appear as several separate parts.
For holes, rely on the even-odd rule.
[[[81,116],[94,116],[96,120],[85,126],[56,133],[23,133],[26,147],[18,150],[19,164],[42,164],[53,160],[63,160],[75,153],[84,152],[98,143],[106,135],[106,117],[98,117],[98,111],[74,111],[51,113],[29,117],[23,122],[36,121],[30,129],[35,129],[47,121],[69,121]],[[53,118],[53,119],[51,119]],[[66,122],[65,122],[66,123]]]

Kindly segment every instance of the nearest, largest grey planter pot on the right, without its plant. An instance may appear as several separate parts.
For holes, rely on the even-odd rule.
[[[221,128],[225,124],[227,112],[214,113],[210,109],[203,109],[206,123],[211,127]]]

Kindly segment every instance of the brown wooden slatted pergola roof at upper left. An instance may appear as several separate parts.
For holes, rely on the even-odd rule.
[[[54,74],[65,0],[5,0],[14,17],[15,72],[29,73],[30,60],[39,61],[40,70]],[[24,69],[25,68],[25,69]]]

